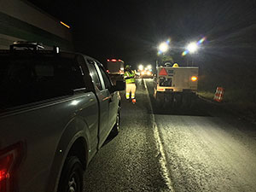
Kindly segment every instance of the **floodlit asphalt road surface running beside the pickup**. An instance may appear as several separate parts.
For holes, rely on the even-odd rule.
[[[137,104],[121,95],[119,135],[91,161],[84,191],[256,191],[255,125],[201,99],[159,107],[152,79],[137,79]]]

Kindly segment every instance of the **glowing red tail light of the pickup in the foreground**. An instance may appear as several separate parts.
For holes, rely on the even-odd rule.
[[[20,165],[21,143],[0,150],[0,192],[15,190],[17,169]]]

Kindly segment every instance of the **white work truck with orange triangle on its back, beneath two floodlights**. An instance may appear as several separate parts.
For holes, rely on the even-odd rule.
[[[198,67],[178,67],[166,62],[156,67],[154,99],[159,105],[190,105],[197,92]]]

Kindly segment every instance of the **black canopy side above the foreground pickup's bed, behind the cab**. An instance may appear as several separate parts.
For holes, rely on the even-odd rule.
[[[0,109],[72,95],[84,88],[75,58],[60,56],[0,57]]]

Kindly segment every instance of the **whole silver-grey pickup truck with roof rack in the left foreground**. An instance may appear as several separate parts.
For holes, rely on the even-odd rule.
[[[82,191],[83,173],[119,130],[124,82],[87,55],[0,50],[0,191]]]

